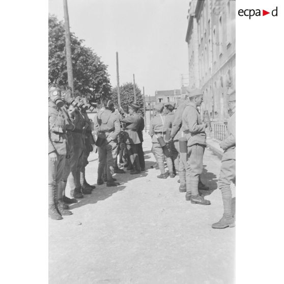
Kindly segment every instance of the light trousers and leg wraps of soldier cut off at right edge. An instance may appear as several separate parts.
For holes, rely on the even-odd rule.
[[[236,159],[232,159],[232,155],[228,157],[225,152],[222,157],[220,175],[218,180],[218,188],[222,193],[224,217],[232,218],[234,210],[232,206],[232,190],[231,183],[236,184]]]

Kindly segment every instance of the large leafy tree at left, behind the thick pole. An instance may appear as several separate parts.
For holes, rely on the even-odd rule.
[[[74,89],[91,102],[110,98],[111,86],[107,65],[94,51],[83,46],[74,33],[70,34]],[[48,17],[48,82],[67,85],[65,26],[62,21]]]

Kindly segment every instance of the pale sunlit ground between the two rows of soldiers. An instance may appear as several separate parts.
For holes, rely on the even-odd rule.
[[[145,140],[145,173],[116,175],[121,186],[98,186],[71,207],[73,215],[49,220],[50,284],[234,283],[235,228],[211,229],[222,215],[220,160],[205,151],[202,179],[212,204],[193,205],[178,177],[156,178]],[[95,184],[97,155],[89,160],[87,180]]]

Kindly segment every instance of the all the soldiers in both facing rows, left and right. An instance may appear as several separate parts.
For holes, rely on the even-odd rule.
[[[143,152],[144,118],[139,113],[139,105],[130,103],[128,112],[115,108],[111,100],[103,100],[94,121],[88,118],[87,109],[95,108],[85,96],[78,92],[71,95],[68,86],[51,84],[48,88],[48,202],[49,216],[60,220],[62,215],[71,215],[68,204],[76,203],[83,194],[90,194],[95,188],[88,184],[85,168],[88,157],[97,147],[99,164],[97,185],[118,186],[113,174],[124,174],[118,166],[130,170],[131,175],[145,171]],[[203,92],[199,89],[186,91],[186,96],[178,103],[158,103],[155,117],[150,122],[152,152],[156,167],[160,169],[157,178],[174,178],[179,175],[179,191],[186,192],[185,198],[192,204],[210,205],[202,190],[209,190],[200,179],[203,172],[203,155],[206,147],[207,123],[202,122],[198,107],[203,102]],[[212,228],[226,228],[235,225],[232,210],[231,182],[235,182],[236,135],[235,107],[236,92],[228,90],[231,117],[228,122],[228,137],[220,144],[224,150],[218,187],[224,206],[223,217],[212,224]],[[168,172],[165,171],[165,163]],[[65,195],[67,180],[70,196]]]

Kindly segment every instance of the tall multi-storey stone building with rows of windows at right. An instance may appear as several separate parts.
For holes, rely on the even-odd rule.
[[[226,91],[236,86],[235,9],[234,0],[189,2],[186,33],[189,88],[203,90],[201,114],[208,111],[216,125],[226,123]]]

